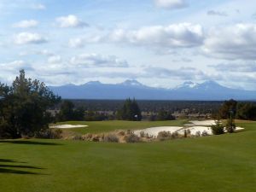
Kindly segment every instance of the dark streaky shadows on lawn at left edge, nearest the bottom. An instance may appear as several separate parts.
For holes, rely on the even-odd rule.
[[[0,159],[0,174],[1,173],[12,173],[20,175],[43,175],[42,173],[31,172],[30,170],[42,170],[44,168],[38,166],[21,166],[21,165],[6,165],[1,163],[26,163],[16,160]],[[29,171],[15,170],[15,169],[29,169]]]

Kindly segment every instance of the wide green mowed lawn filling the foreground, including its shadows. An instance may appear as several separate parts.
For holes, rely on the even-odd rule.
[[[0,142],[2,192],[254,192],[256,122],[161,143]]]

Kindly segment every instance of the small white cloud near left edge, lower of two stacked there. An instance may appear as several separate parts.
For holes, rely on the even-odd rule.
[[[44,44],[47,39],[38,33],[20,32],[15,35],[15,44]]]

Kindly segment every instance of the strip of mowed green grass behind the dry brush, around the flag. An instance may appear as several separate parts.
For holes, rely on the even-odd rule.
[[[66,131],[74,131],[81,134],[86,133],[102,133],[116,130],[139,130],[154,126],[182,126],[187,123],[186,119],[171,121],[67,121],[57,123],[56,125],[88,125],[84,128],[65,129]]]

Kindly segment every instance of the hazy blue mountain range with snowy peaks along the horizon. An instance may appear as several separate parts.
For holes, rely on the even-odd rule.
[[[236,100],[256,100],[256,91],[236,90],[224,87],[214,81],[202,84],[184,82],[175,89],[149,87],[137,80],[126,80],[121,84],[102,84],[91,81],[86,84],[49,87],[55,94],[66,99],[125,99],[139,100],[203,100],[219,101],[230,98]]]

